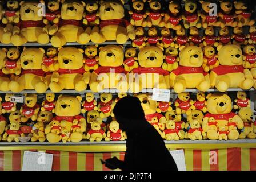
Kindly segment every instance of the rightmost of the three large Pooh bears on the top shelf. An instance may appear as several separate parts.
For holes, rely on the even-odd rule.
[[[99,27],[94,26],[90,38],[94,43],[103,43],[106,40],[116,40],[118,44],[124,44],[130,38],[135,39],[133,26],[124,19],[125,9],[123,0],[101,1],[99,7]]]

